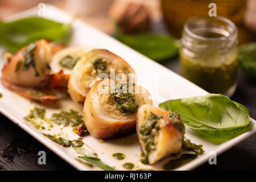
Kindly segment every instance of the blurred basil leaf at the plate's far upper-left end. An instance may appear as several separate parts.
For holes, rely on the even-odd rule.
[[[71,24],[63,24],[41,17],[28,17],[13,22],[0,21],[0,44],[14,53],[39,39],[64,44],[71,35]]]

